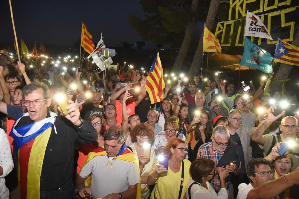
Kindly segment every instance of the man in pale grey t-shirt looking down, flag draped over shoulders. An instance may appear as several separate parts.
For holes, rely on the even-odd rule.
[[[134,153],[124,145],[124,136],[120,127],[109,127],[104,135],[104,148],[98,147],[88,154],[86,163],[76,178],[82,198],[86,194],[99,198],[141,196],[138,161]],[[91,184],[85,186],[84,182],[90,174]]]

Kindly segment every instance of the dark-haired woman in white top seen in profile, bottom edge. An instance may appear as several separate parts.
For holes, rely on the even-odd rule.
[[[187,199],[208,198],[208,199],[227,199],[228,193],[225,186],[225,178],[228,171],[219,169],[220,191],[215,192],[209,181],[214,177],[215,163],[207,158],[198,158],[190,166],[191,178],[187,188]]]

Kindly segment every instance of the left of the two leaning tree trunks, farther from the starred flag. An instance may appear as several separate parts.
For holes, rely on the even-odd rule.
[[[194,26],[195,26],[196,13],[197,13],[197,10],[198,10],[198,1],[199,0],[192,0],[191,12],[192,12],[193,17],[187,25],[187,29],[186,29],[186,32],[185,32],[185,36],[184,36],[179,54],[176,57],[176,61],[173,64],[173,68],[172,68],[173,71],[181,70],[182,64],[183,64],[184,59],[186,57],[186,54],[187,54],[187,51],[188,51],[188,48],[189,48],[189,44],[190,44],[190,41],[191,41],[192,32],[193,32],[193,29],[194,29]]]

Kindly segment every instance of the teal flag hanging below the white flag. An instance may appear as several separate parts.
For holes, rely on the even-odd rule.
[[[265,73],[271,73],[273,69],[272,55],[251,42],[247,37],[244,37],[244,42],[244,53],[242,55],[240,65],[256,68],[257,70],[261,70]]]

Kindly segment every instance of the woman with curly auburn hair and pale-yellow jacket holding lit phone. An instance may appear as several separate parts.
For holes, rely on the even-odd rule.
[[[150,169],[156,164],[155,152],[150,148],[149,144],[154,141],[155,133],[149,124],[137,124],[131,132],[131,138],[133,143],[128,147],[131,147],[139,162],[141,174],[141,198],[147,198],[149,196],[147,177]],[[144,149],[148,150],[147,147],[150,150],[149,156],[144,154]]]

